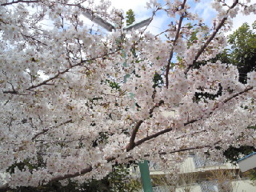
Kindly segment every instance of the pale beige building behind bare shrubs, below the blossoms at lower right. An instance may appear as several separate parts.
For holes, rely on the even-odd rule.
[[[195,154],[190,154],[182,163],[181,174],[176,182],[168,181],[166,178],[171,173],[168,173],[168,170],[163,172],[157,163],[150,162],[149,167],[154,192],[256,191],[256,182],[246,178],[238,166],[225,162],[213,162]],[[133,167],[131,172],[140,177],[138,167]]]

